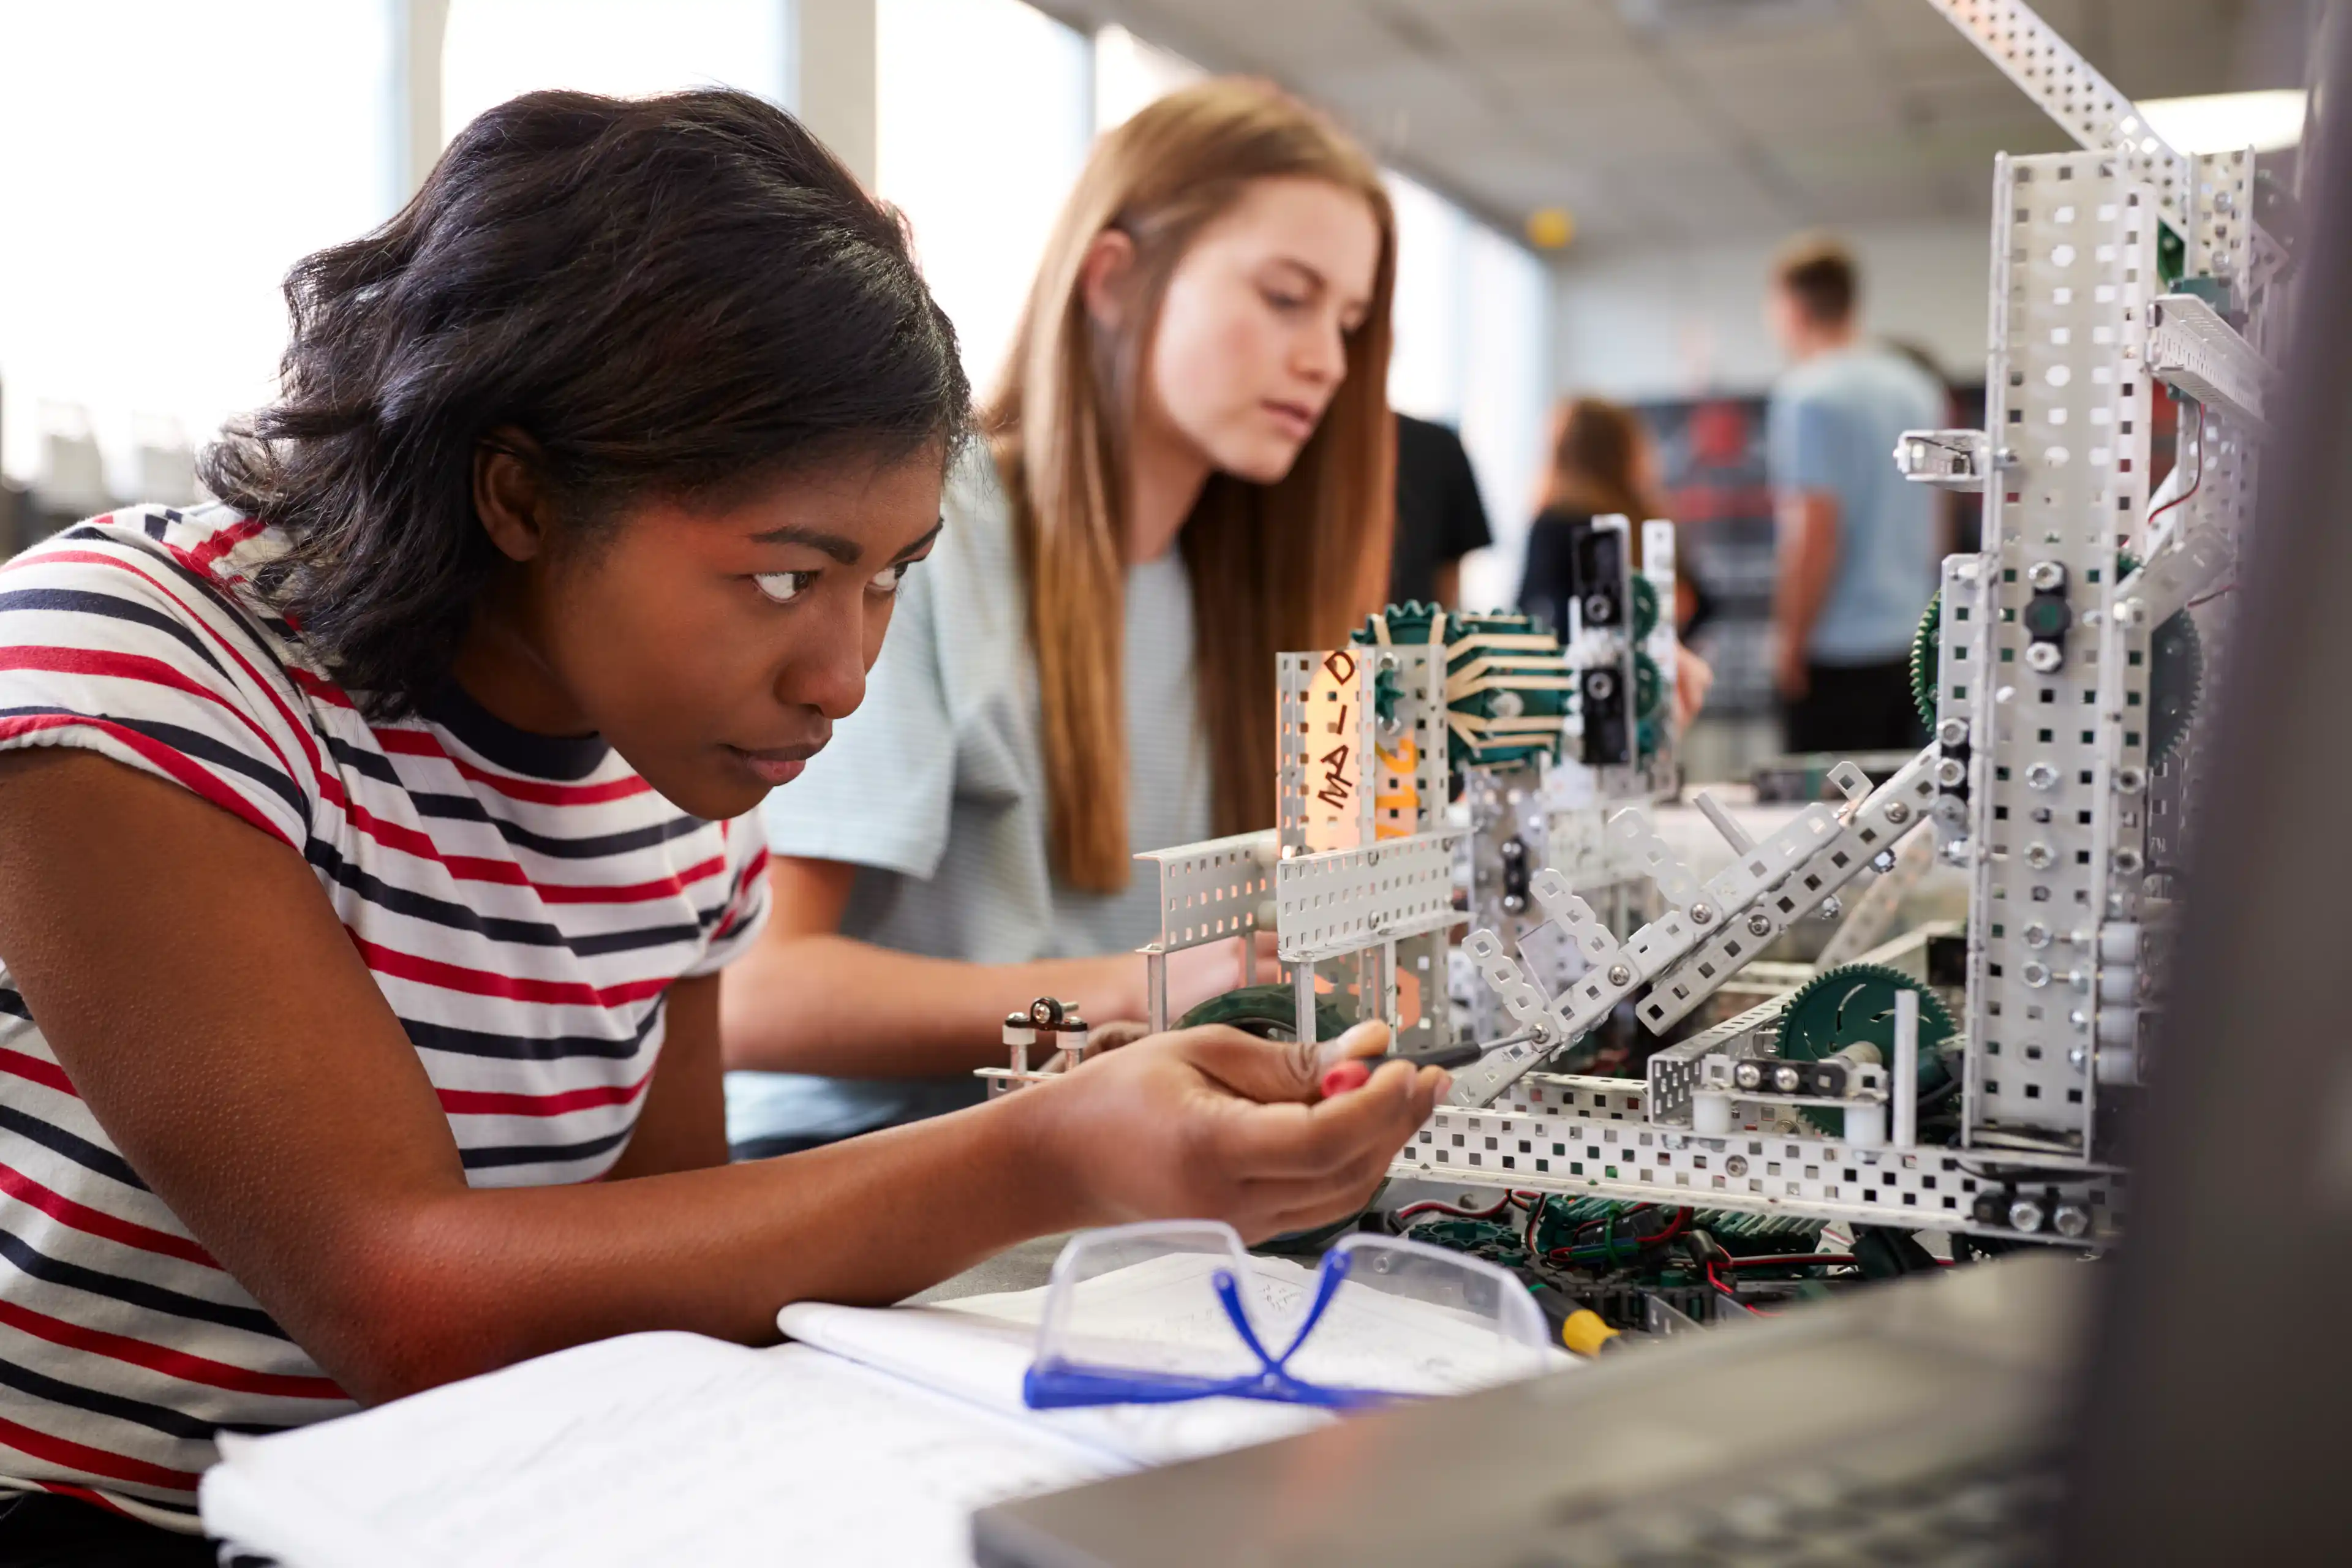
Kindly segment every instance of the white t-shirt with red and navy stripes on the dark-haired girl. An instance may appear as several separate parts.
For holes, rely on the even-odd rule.
[[[0,748],[78,745],[282,839],[367,959],[475,1187],[628,1145],[663,994],[767,914],[757,818],[668,804],[597,738],[454,686],[369,724],[263,604],[282,536],[141,508],[0,567]],[[195,1528],[221,1427],[350,1401],[146,1190],[0,966],[0,1490]]]

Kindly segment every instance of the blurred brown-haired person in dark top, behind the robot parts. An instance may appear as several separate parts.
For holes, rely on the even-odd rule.
[[[1658,442],[1642,418],[1604,397],[1569,397],[1552,414],[1552,468],[1543,480],[1536,522],[1526,529],[1526,564],[1519,571],[1519,609],[1566,637],[1576,529],[1595,517],[1623,512],[1635,524],[1665,517]],[[1708,618],[1708,595],[1682,557],[1677,529],[1675,635],[1689,637]],[[1639,562],[1637,562],[1639,564]],[[1689,724],[1708,698],[1715,672],[1686,646],[1677,649],[1675,710]]]

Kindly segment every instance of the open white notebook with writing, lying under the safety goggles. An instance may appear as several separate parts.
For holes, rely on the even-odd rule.
[[[1087,1288],[1167,1331],[1200,1281],[1150,1269]],[[1042,1305],[804,1302],[776,1319],[797,1345],[637,1333],[299,1432],[223,1434],[205,1528],[287,1568],[967,1568],[988,1502],[1334,1420],[1249,1399],[1028,1410]],[[1357,1352],[1428,1375],[1444,1335],[1406,1314]]]

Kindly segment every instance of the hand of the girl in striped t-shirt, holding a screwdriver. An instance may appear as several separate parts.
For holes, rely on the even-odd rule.
[[[1385,1048],[1383,1023],[1319,1046],[1176,1030],[1016,1098],[1087,1222],[1225,1220],[1261,1241],[1359,1211],[1428,1121],[1449,1084],[1437,1067],[1388,1063],[1319,1098],[1324,1067]]]

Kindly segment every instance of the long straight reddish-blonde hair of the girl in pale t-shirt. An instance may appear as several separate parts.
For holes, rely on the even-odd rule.
[[[1070,886],[1115,891],[1129,875],[1127,447],[1160,301],[1195,235],[1251,181],[1282,176],[1362,195],[1381,263],[1364,324],[1348,336],[1348,374],[1289,475],[1211,475],[1178,536],[1216,830],[1272,823],[1275,654],[1338,644],[1388,583],[1397,226],[1371,160],[1263,82],[1200,82],[1148,106],[1105,134],[1077,176],[983,411],[1030,590],[1049,849]],[[1122,315],[1141,327],[1127,331],[1098,327],[1082,289],[1087,252],[1112,228],[1136,247],[1136,310]]]

